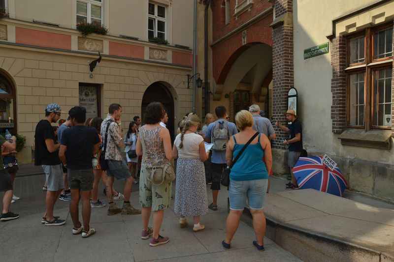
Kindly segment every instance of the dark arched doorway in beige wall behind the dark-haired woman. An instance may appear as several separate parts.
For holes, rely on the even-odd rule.
[[[141,116],[142,123],[144,123],[145,109],[148,104],[151,102],[161,102],[168,114],[167,129],[171,135],[171,141],[173,141],[175,139],[174,98],[166,85],[169,84],[155,82],[145,90],[144,96],[142,97]]]

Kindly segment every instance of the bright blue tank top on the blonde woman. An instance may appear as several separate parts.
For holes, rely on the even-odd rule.
[[[256,144],[249,144],[238,158],[237,162],[232,166],[230,172],[230,179],[235,181],[248,181],[257,179],[268,179],[267,168],[263,162],[264,150],[259,142]],[[244,144],[237,144],[235,137],[234,148],[232,150],[232,159],[238,155]]]

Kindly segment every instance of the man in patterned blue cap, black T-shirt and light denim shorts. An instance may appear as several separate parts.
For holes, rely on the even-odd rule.
[[[53,207],[65,187],[63,170],[58,156],[60,144],[55,144],[55,132],[51,123],[56,123],[61,116],[58,104],[49,104],[45,109],[45,119],[40,120],[35,127],[34,164],[42,166],[46,176],[46,211],[41,219],[45,226],[61,226],[66,220],[53,216]]]

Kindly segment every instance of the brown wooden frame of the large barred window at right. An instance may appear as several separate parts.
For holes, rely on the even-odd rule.
[[[374,34],[377,31],[391,28],[393,29],[393,22],[386,23],[384,25],[375,28],[366,28],[361,32],[353,33],[348,35],[346,38],[346,62],[348,68],[346,68],[346,126],[349,128],[360,128],[369,131],[371,129],[379,130],[391,130],[391,126],[377,126],[374,125],[374,79],[373,72],[376,70],[381,70],[383,68],[393,68],[393,58],[394,56],[387,58],[373,59],[374,56]],[[365,60],[362,63],[350,63],[350,40],[365,35],[364,37],[364,57]],[[393,50],[394,51],[394,50]],[[393,52],[394,54],[394,52]],[[376,64],[376,62],[379,62]],[[364,125],[355,126],[350,125],[350,75],[358,74],[364,72]],[[394,76],[392,76],[394,77]],[[392,94],[393,95],[393,94]],[[392,104],[392,110],[393,110]]]

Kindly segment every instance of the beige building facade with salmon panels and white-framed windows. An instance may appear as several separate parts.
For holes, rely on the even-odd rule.
[[[49,103],[85,106],[88,117],[119,103],[124,132],[152,101],[164,103],[171,133],[192,110],[193,1],[0,0],[0,9],[0,132],[26,137],[22,162]],[[83,36],[78,24],[108,31]]]

